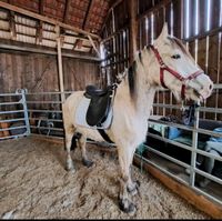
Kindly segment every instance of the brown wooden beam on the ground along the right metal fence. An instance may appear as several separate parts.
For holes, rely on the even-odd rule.
[[[138,157],[134,157],[134,163],[140,167],[140,160]],[[164,185],[170,190],[179,194],[181,198],[184,198],[189,203],[193,204],[199,210],[205,212],[214,219],[222,218],[222,207],[219,203],[213,203],[204,195],[196,193],[194,190],[188,185],[175,181],[169,175],[164,174],[160,170],[155,169],[153,165],[143,162],[143,168],[145,171],[151,173],[154,178],[160,180]]]

